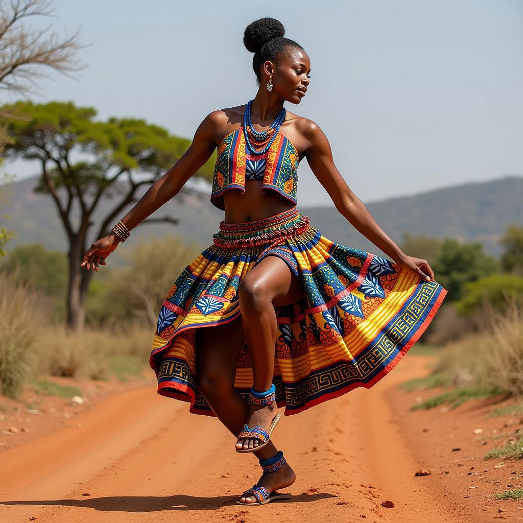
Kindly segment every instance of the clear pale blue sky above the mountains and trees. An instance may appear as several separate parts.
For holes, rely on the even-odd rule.
[[[53,6],[54,17],[26,23],[62,38],[79,28],[92,45],[78,53],[88,67],[77,79],[46,71],[36,102],[72,100],[101,119],[140,117],[192,138],[207,113],[255,96],[243,31],[272,16],[311,58],[306,97],[285,107],[319,124],[363,201],[523,174],[521,0]],[[27,162],[7,170],[39,172]],[[299,178],[298,204],[332,204],[306,161]]]

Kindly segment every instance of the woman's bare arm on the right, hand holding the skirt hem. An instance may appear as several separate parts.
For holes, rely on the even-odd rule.
[[[423,258],[407,256],[374,220],[363,202],[354,194],[339,173],[332,157],[331,144],[317,123],[303,119],[303,137],[308,142],[304,155],[338,212],[374,245],[389,255],[397,265],[426,281],[434,280],[434,271]]]

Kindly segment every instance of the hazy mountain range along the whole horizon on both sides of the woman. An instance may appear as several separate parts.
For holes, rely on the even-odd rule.
[[[38,177],[27,178],[6,188],[9,203],[3,212],[10,214],[12,220],[6,220],[4,224],[18,234],[17,238],[9,242],[7,251],[16,245],[33,242],[39,242],[49,249],[67,251],[65,232],[53,201],[47,195],[33,192],[37,180]],[[146,189],[144,187],[138,196],[142,196]],[[186,184],[175,198],[152,215],[152,218],[169,215],[178,219],[179,223],[144,223],[133,230],[126,245],[132,245],[139,238],[146,240],[173,234],[183,236],[189,243],[211,245],[212,234],[218,231],[218,222],[223,220],[223,211],[212,206],[209,202],[210,190],[208,192],[189,188]],[[116,201],[118,196],[100,202],[95,217],[97,226]],[[367,208],[396,243],[402,242],[403,232],[437,238],[452,236],[464,242],[481,242],[486,252],[498,255],[501,248],[497,240],[504,233],[505,225],[523,225],[522,201],[523,177],[506,176],[371,202],[367,203]],[[120,212],[119,218],[133,205]],[[298,209],[302,214],[309,215],[311,224],[329,240],[383,254],[334,207],[306,207],[298,204]],[[92,235],[95,234],[94,229]],[[96,239],[90,236],[89,242]]]

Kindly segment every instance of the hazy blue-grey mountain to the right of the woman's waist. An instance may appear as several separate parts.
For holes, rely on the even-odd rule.
[[[366,206],[396,243],[402,242],[403,232],[435,238],[450,236],[462,242],[480,242],[485,252],[498,256],[502,249],[497,241],[505,226],[523,226],[523,176],[464,183]],[[377,251],[336,209],[314,207],[306,211],[311,223],[329,239]]]

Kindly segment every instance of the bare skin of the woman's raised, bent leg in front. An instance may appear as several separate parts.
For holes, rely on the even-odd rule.
[[[238,286],[238,295],[243,330],[253,363],[253,387],[255,391],[264,392],[272,385],[274,374],[277,330],[274,308],[303,298],[303,282],[283,259],[269,254],[245,275]],[[245,423],[268,430],[277,411],[276,402],[265,406],[251,403]],[[256,448],[258,444],[257,439],[239,438],[236,448]]]

